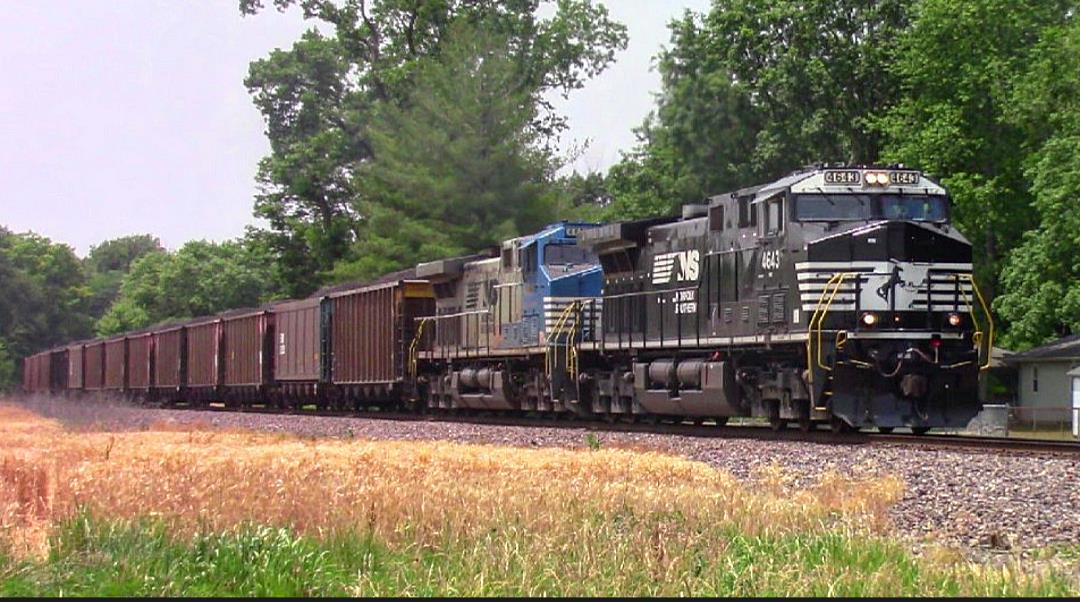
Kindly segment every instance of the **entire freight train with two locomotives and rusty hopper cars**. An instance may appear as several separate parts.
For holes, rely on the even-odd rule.
[[[948,196],[816,166],[365,285],[80,342],[24,389],[200,405],[963,427],[994,324]]]

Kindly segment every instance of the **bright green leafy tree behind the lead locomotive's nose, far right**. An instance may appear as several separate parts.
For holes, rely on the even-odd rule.
[[[1007,117],[1012,89],[1042,32],[1074,6],[1072,0],[921,0],[900,38],[892,71],[903,93],[878,121],[885,158],[941,176],[954,219],[978,250],[976,272],[990,296],[1002,257],[1036,220],[1024,173],[1031,147]]]

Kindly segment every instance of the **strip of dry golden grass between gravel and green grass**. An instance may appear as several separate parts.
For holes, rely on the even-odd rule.
[[[440,442],[305,440],[221,430],[65,431],[0,405],[0,536],[40,553],[59,521],[157,517],[183,533],[247,521],[320,535],[370,529],[390,543],[436,545],[494,525],[588,530],[597,513],[664,513],[672,524],[729,524],[747,535],[823,525],[887,529],[903,493],[889,478],[826,476],[794,490],[777,469],[746,484],[703,464],[624,450],[571,451]],[[671,537],[642,533],[664,566]],[[586,536],[586,533],[581,533]],[[566,538],[552,538],[552,545]],[[597,550],[603,552],[603,550]]]

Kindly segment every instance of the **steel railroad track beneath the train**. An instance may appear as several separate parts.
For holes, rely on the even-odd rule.
[[[845,445],[901,445],[918,449],[966,449],[987,452],[1020,452],[1040,454],[1080,454],[1080,442],[1047,441],[1037,439],[1015,439],[1003,437],[977,437],[966,434],[904,434],[878,432],[832,432],[827,430],[800,431],[796,428],[772,430],[768,426],[735,425],[694,425],[688,423],[608,423],[586,420],[561,415],[515,416],[499,414],[474,413],[461,414],[411,414],[400,411],[365,410],[361,412],[325,411],[325,410],[280,410],[272,407],[224,407],[221,405],[170,406],[166,410],[194,410],[211,412],[244,412],[254,414],[303,415],[325,417],[354,417],[375,420],[393,422],[429,422],[457,423],[487,426],[510,426],[523,428],[551,428],[557,426],[565,429],[579,429],[584,432],[640,432],[653,434],[674,434],[680,437],[706,439],[756,439],[766,441],[796,441],[822,444]]]

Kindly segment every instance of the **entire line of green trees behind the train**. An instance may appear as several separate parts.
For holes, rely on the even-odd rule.
[[[1075,0],[714,0],[670,25],[656,106],[607,173],[564,175],[550,98],[626,28],[595,0],[240,0],[313,26],[244,80],[271,151],[241,239],[79,259],[0,231],[0,386],[50,345],[465,254],[558,218],[671,214],[816,162],[941,178],[1023,349],[1080,327]],[[642,66],[646,68],[646,66]]]

